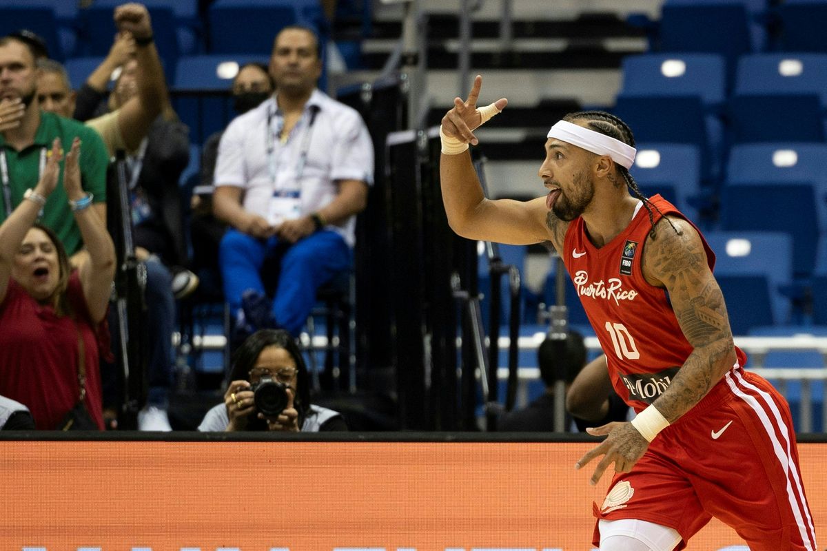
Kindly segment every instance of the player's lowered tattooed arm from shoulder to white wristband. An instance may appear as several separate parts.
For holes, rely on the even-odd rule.
[[[683,335],[692,353],[654,402],[673,423],[705,397],[735,363],[735,346],[724,296],[706,262],[698,232],[687,221],[670,216],[657,224],[657,238],[648,238],[643,274],[649,283],[666,287]]]

